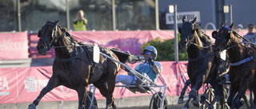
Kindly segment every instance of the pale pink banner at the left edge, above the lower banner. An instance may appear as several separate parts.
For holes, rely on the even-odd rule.
[[[0,60],[28,59],[27,33],[0,33]]]

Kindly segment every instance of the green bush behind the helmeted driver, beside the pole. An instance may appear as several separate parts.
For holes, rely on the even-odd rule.
[[[178,34],[178,42],[180,41],[180,37]],[[174,39],[169,39],[162,41],[162,39],[155,38],[154,40],[151,40],[150,42],[145,43],[142,45],[142,50],[147,46],[152,45],[155,47],[155,49],[158,50],[158,61],[168,61],[168,60],[175,60],[175,53],[174,53]],[[141,51],[143,53],[143,51]],[[186,50],[183,52],[178,51],[178,60],[187,60],[188,55],[186,53]]]

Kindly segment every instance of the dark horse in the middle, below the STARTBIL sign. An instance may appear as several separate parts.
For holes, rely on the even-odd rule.
[[[220,63],[218,58],[214,56],[213,43],[205,33],[200,29],[200,25],[195,24],[196,18],[193,21],[186,21],[182,18],[182,24],[178,27],[178,32],[181,33],[181,41],[178,44],[179,50],[187,50],[188,66],[187,73],[190,77],[191,91],[189,99],[183,108],[189,108],[190,100],[193,98],[195,107],[199,107],[197,98],[198,90],[202,84],[208,84],[214,88],[215,98],[210,103],[210,108],[214,108],[214,103],[220,100],[221,106],[224,107],[222,84],[218,84],[221,77],[218,75]],[[225,73],[225,72],[222,72]],[[202,96],[201,96],[202,97]]]

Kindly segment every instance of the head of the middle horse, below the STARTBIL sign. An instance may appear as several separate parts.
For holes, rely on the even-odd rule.
[[[181,34],[180,37],[181,37],[181,41],[179,42],[178,44],[178,49],[180,50],[184,50],[186,49],[186,47],[188,45],[190,45],[190,42],[193,42],[195,41],[195,38],[194,36],[197,36],[195,35],[196,34],[196,27],[195,27],[195,22],[196,21],[196,18],[194,18],[193,21],[186,21],[186,18],[183,17],[182,19],[182,24],[178,26],[178,32]],[[202,44],[199,44],[202,46]]]

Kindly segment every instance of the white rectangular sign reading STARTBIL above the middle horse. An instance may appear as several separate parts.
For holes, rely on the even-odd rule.
[[[183,16],[186,17],[186,21],[192,21],[197,17],[196,22],[200,22],[200,12],[191,11],[191,12],[179,12],[177,13],[177,23],[182,23]],[[166,25],[174,24],[174,14],[166,13]]]

